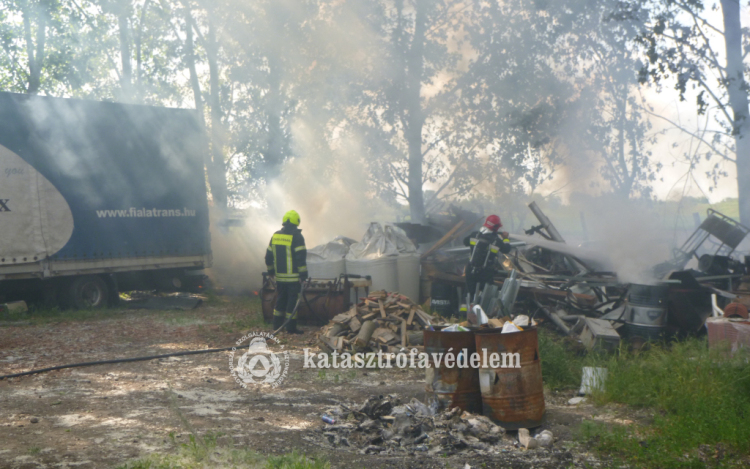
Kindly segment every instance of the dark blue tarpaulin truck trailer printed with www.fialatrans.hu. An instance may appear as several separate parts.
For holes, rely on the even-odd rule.
[[[0,301],[84,308],[211,264],[194,110],[0,93]]]

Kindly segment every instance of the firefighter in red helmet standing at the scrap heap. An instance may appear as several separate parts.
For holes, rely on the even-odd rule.
[[[464,238],[464,246],[471,248],[469,263],[466,266],[466,288],[472,298],[477,291],[484,288],[484,284],[493,282],[499,253],[510,252],[508,232],[499,231],[502,226],[500,217],[490,215],[479,231]]]

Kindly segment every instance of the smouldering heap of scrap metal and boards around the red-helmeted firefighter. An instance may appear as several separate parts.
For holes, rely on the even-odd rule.
[[[747,258],[743,264],[731,254],[750,229],[731,218],[709,210],[695,233],[674,250],[671,260],[655,265],[646,275],[648,281],[631,284],[582,258],[579,250],[565,244],[535,203],[529,208],[539,225],[526,230],[527,236],[520,237],[524,242],[512,243],[516,249],[505,255],[495,282],[481,292],[461,291],[462,277],[455,272],[462,261],[446,267],[462,249],[463,259],[468,258],[468,248],[443,248],[456,241],[455,236],[444,237],[436,243],[440,246],[423,255],[426,280],[450,285],[455,292],[452,296],[457,300],[448,316],[458,311],[458,305],[468,310],[467,325],[482,325],[493,318],[500,324],[517,315],[528,316],[564,335],[579,337],[589,349],[600,350],[616,348],[621,337],[638,342],[700,334],[707,319],[724,314],[722,308],[727,314],[747,318],[750,295],[742,288],[750,283],[746,276],[750,265]],[[454,234],[465,231],[465,222],[459,221],[454,228]],[[685,269],[691,259],[699,261],[697,270]],[[476,305],[481,307],[481,317],[472,311]]]

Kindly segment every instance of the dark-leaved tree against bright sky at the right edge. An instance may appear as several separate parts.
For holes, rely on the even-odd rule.
[[[639,37],[648,63],[641,69],[641,81],[674,81],[680,98],[696,90],[699,115],[711,113],[721,130],[713,138],[692,134],[705,145],[706,158],[718,157],[709,176],[725,175],[723,163],[736,166],[740,221],[750,224],[750,113],[748,69],[744,63],[747,32],[741,24],[738,0],[721,0],[723,24],[705,19],[700,0],[661,0],[650,3],[621,3],[620,18],[644,22]],[[718,39],[724,50],[717,47]]]

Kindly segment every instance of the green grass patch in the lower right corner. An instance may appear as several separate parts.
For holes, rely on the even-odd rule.
[[[747,465],[747,358],[727,358],[726,350],[709,350],[705,341],[694,339],[601,359],[597,366],[608,369],[606,389],[592,396],[594,401],[654,409],[654,420],[621,428],[589,424],[581,436],[600,452],[637,467]]]

